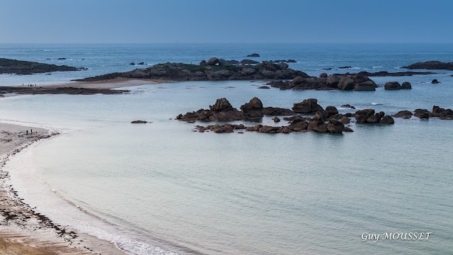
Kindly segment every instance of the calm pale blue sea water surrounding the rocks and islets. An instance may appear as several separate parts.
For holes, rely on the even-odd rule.
[[[0,45],[0,52],[0,57],[88,67],[51,75],[2,74],[1,86],[45,85],[140,67],[130,62],[242,60],[253,52],[261,55],[256,60],[294,59],[289,67],[316,76],[453,62],[453,45],[446,44]],[[338,69],[343,66],[351,68]],[[174,120],[222,97],[236,108],[254,96],[264,106],[284,108],[317,98],[340,113],[350,111],[340,108],[345,103],[387,115],[434,105],[453,108],[453,72],[435,72],[371,77],[381,85],[411,82],[413,89],[401,91],[280,91],[257,89],[265,81],[187,81],[128,87],[131,93],[124,95],[0,98],[1,120],[62,132],[25,149],[6,167],[26,203],[131,254],[448,254],[453,250],[450,120],[351,123],[355,132],[343,135],[199,133],[193,132],[197,124]],[[442,84],[430,84],[432,79]],[[275,125],[272,118],[263,124]],[[150,123],[132,125],[132,120]],[[428,240],[373,242],[362,241],[365,232],[432,234]]]

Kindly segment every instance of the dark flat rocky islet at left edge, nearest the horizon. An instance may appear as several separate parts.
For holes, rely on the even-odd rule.
[[[69,72],[85,70],[84,67],[68,67],[67,65],[44,64],[22,60],[0,58],[0,74],[40,74],[48,72]]]

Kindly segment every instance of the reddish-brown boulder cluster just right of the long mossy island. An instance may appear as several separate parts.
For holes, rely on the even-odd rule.
[[[319,77],[296,77],[292,81],[270,81],[267,85],[278,89],[293,90],[332,90],[374,91],[377,85],[362,74],[331,74],[322,73]]]

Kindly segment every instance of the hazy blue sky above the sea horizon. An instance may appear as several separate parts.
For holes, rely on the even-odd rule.
[[[453,42],[452,0],[0,0],[0,43]]]

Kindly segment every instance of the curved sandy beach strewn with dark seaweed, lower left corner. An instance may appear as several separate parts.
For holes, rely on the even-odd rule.
[[[28,131],[28,133],[27,133]],[[33,133],[32,133],[33,132]],[[8,159],[57,132],[0,123],[0,255],[4,254],[125,254],[115,244],[76,233],[23,203],[8,182]]]

